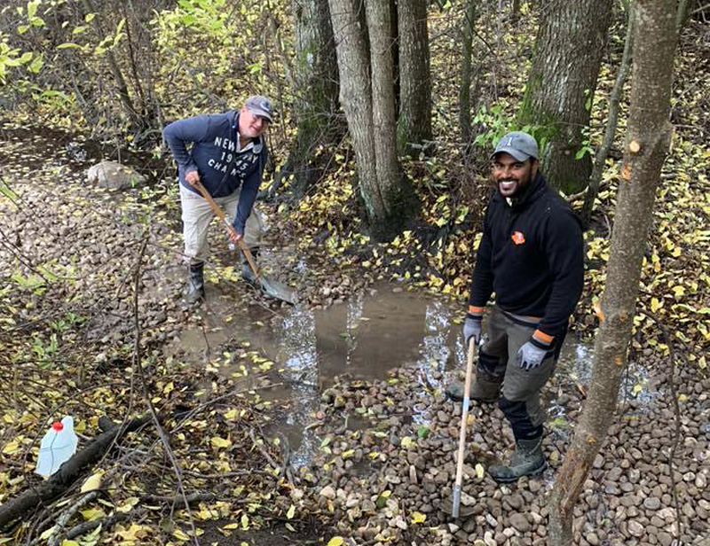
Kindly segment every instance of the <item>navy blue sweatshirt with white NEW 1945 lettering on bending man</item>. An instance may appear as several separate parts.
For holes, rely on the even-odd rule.
[[[241,187],[233,225],[243,235],[268,156],[261,137],[246,151],[238,152],[238,127],[239,112],[209,113],[173,121],[162,136],[177,161],[180,183],[188,190],[200,193],[185,181],[185,175],[195,170],[212,197],[226,197]],[[188,144],[192,144],[189,152]]]

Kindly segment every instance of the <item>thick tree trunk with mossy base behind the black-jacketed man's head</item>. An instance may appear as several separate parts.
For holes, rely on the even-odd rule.
[[[582,191],[592,161],[582,129],[589,124],[591,98],[611,22],[611,0],[569,2],[545,6],[535,41],[535,60],[528,77],[522,125],[532,125],[543,147],[541,168],[548,181],[566,194]]]

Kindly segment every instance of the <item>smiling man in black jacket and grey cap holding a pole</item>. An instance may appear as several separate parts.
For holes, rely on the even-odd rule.
[[[584,254],[578,218],[538,172],[533,136],[521,131],[503,136],[492,160],[497,191],[485,212],[463,335],[466,347],[470,339],[480,343],[485,305],[495,292],[469,397],[497,400],[513,429],[516,451],[510,464],[488,469],[502,483],[547,466],[540,389],[555,370],[580,299]],[[463,398],[461,383],[446,392],[454,400]]]

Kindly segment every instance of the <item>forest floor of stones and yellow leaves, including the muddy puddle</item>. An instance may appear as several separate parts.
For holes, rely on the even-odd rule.
[[[483,126],[515,113],[533,33],[518,34],[499,37],[495,89],[480,91],[494,92],[503,109],[489,111]],[[705,546],[710,536],[708,36],[698,25],[682,39],[676,134],[628,371],[574,511],[584,546]],[[446,73],[455,63],[436,65],[454,49],[455,40],[432,47],[437,134],[455,125],[445,116],[456,113],[457,76]],[[599,95],[612,84],[604,69]],[[595,142],[605,108],[595,101]],[[0,121],[0,517],[43,484],[34,469],[52,421],[73,416],[83,449],[101,417],[152,420],[59,497],[0,525],[0,544],[546,542],[546,500],[590,381],[592,307],[604,288],[618,160],[605,170],[585,235],[585,292],[566,360],[545,392],[548,471],[496,485],[485,467],[509,456],[512,439],[499,409],[474,403],[465,517],[454,522],[442,506],[451,498],[461,407],[442,393],[462,370],[461,309],[485,202],[485,175],[461,146],[441,142],[438,157],[405,161],[421,224],[389,244],[362,232],[344,144],[332,172],[295,207],[264,206],[272,228],[263,263],[296,287],[295,307],[240,280],[215,222],[207,302],[184,308],[177,184],[165,163],[129,154],[122,160],[153,170],[152,182],[102,190],[85,177],[100,159],[96,143],[37,127],[34,117]]]

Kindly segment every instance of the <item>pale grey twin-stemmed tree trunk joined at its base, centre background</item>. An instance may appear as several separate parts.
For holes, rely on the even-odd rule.
[[[395,110],[390,57],[389,4],[367,0],[372,78],[366,29],[359,22],[358,0],[329,0],[340,74],[340,101],[348,121],[358,166],[359,191],[373,236],[393,237],[412,207],[395,154]],[[372,85],[370,85],[372,82]]]

